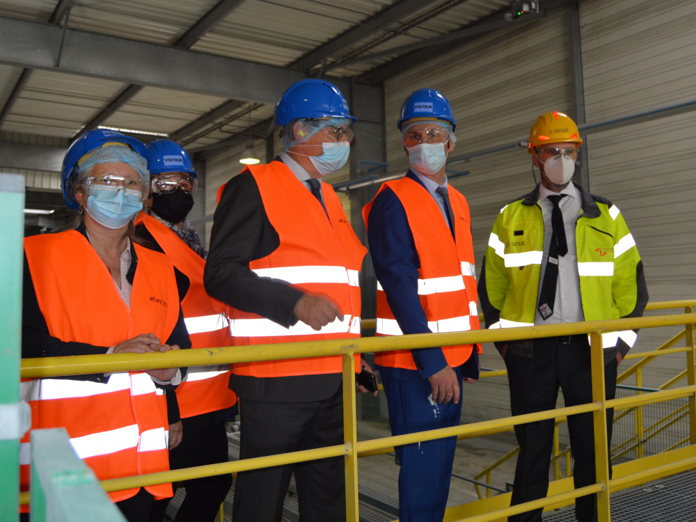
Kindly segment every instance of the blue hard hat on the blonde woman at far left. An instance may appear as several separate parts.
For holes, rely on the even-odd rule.
[[[113,141],[116,143],[124,143],[143,158],[146,157],[145,145],[143,145],[140,140],[131,138],[120,132],[107,129],[94,129],[81,134],[70,144],[68,152],[65,153],[65,158],[63,158],[63,168],[61,170],[63,199],[69,208],[74,210],[79,207],[77,201],[72,197],[72,182],[74,181],[77,162],[85,155],[102,147],[105,143]]]

